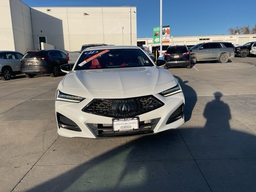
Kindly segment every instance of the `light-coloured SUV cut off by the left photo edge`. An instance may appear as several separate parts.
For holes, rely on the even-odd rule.
[[[20,59],[24,55],[16,51],[0,51],[0,78],[10,80],[11,76],[20,74]]]

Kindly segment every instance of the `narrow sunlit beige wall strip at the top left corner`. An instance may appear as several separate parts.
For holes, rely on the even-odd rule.
[[[0,0],[0,50],[15,50],[9,0]]]

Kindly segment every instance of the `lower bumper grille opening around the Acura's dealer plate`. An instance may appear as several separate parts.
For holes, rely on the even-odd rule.
[[[97,137],[116,137],[153,133],[160,118],[139,122],[139,128],[131,131],[113,131],[112,124],[87,123]]]

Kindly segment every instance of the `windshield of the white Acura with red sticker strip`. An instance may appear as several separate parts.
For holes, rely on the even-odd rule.
[[[85,51],[74,70],[154,66],[141,49],[105,49]]]

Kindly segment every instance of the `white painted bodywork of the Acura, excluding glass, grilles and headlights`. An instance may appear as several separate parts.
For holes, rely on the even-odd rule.
[[[104,46],[101,49],[117,47],[138,48],[134,46]],[[90,49],[98,50],[99,47]],[[170,72],[157,66],[72,70],[59,83],[58,90],[85,99],[79,103],[56,100],[55,110],[56,113],[58,112],[74,121],[82,131],[76,132],[58,126],[58,134],[65,137],[96,138],[96,134],[90,129],[88,123],[112,124],[113,118],[83,112],[82,109],[93,99],[122,99],[148,95],[152,95],[163,102],[164,106],[138,115],[140,121],[160,118],[154,128],[154,133],[178,128],[184,124],[184,116],[167,125],[166,121],[179,106],[185,103],[183,93],[180,92],[167,97],[159,94],[176,86],[177,83]]]

